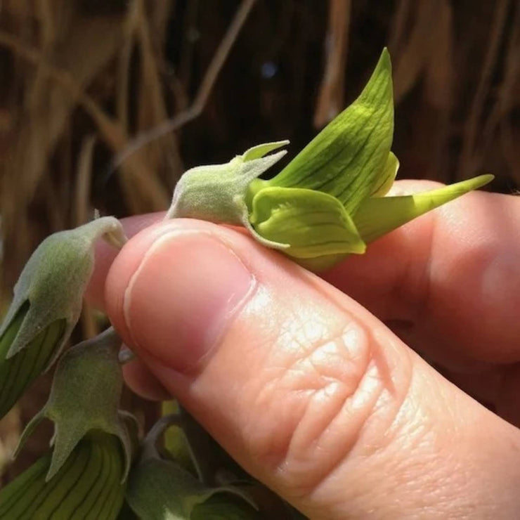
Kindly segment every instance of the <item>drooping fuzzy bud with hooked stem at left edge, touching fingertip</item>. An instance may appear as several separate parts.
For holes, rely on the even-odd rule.
[[[119,221],[103,217],[51,235],[27,261],[0,327],[0,417],[70,337],[93,269],[93,242],[101,235],[124,242]]]

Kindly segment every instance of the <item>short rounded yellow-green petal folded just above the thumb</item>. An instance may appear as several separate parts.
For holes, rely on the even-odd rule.
[[[288,245],[285,254],[312,259],[363,253],[349,214],[336,198],[302,188],[263,188],[253,199],[252,226],[261,237]]]

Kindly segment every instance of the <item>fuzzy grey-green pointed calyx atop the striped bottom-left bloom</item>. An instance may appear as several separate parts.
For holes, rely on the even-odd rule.
[[[112,327],[98,337],[70,348],[58,362],[48,401],[27,424],[15,455],[42,419],[54,423],[53,454],[48,479],[57,474],[79,441],[89,431],[102,431],[119,439],[126,479],[132,458],[132,416],[118,410],[123,388],[117,358],[121,340]]]

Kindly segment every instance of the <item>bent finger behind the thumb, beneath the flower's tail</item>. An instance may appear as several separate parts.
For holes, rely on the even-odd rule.
[[[436,183],[400,181],[403,193]],[[474,192],[325,273],[403,339],[438,358],[520,360],[520,200]],[[403,327],[402,325],[405,324]]]

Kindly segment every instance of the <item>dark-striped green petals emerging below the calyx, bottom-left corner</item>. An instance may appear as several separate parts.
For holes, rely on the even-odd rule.
[[[115,436],[90,431],[48,479],[47,453],[0,490],[0,520],[116,519],[124,456]]]

